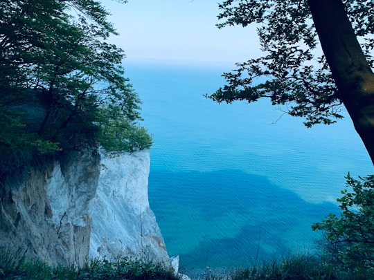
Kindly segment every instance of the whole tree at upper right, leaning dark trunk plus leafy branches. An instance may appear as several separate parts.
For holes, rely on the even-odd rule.
[[[336,122],[344,104],[374,163],[374,2],[227,0],[219,7],[226,19],[219,28],[256,24],[265,56],[224,73],[228,84],[208,97],[269,97],[307,127]]]

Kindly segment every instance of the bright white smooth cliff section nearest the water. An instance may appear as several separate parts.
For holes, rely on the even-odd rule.
[[[92,207],[90,258],[134,256],[168,264],[169,257],[148,202],[150,153],[101,153]]]

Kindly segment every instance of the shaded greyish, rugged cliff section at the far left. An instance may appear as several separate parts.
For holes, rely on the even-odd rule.
[[[7,178],[1,186],[1,249],[51,265],[83,265],[99,162],[97,148],[87,147]]]

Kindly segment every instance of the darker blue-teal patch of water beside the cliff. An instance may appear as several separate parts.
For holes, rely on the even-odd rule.
[[[149,194],[168,252],[179,254],[186,269],[313,250],[321,236],[310,225],[338,212],[337,205],[308,203],[265,176],[232,169],[151,169]]]

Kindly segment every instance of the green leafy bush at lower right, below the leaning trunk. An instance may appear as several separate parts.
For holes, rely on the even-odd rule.
[[[341,191],[341,215],[330,214],[312,230],[323,232],[328,253],[344,268],[374,269],[374,175],[355,180],[348,174],[346,179],[353,192]]]

